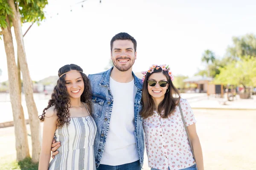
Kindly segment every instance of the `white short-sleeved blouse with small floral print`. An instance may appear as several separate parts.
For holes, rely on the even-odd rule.
[[[180,106],[186,126],[196,123],[189,102],[180,99]],[[166,119],[154,111],[152,116],[143,120],[143,128],[149,167],[158,170],[168,170],[168,167],[170,170],[180,170],[195,164],[179,106],[176,106],[174,114]]]

